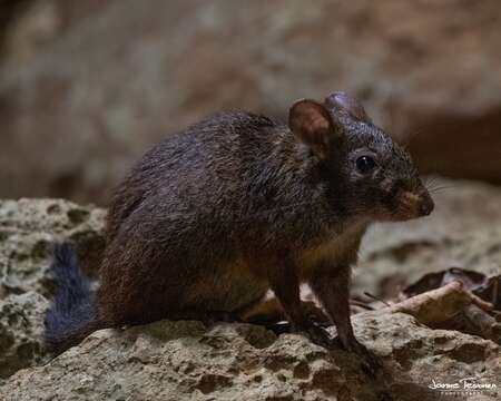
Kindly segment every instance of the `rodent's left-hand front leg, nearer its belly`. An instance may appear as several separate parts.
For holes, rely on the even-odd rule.
[[[269,270],[269,286],[282,304],[287,315],[292,331],[305,333],[312,342],[324,348],[332,346],[332,339],[328,333],[314,322],[312,322],[299,297],[299,280],[293,265],[281,264],[282,268]]]

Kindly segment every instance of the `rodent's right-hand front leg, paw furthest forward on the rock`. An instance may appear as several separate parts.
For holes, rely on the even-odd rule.
[[[320,267],[311,278],[310,285],[335,323],[337,338],[343,348],[358,354],[366,368],[374,371],[381,366],[381,363],[353,334],[348,302],[350,274],[348,265],[335,268]]]

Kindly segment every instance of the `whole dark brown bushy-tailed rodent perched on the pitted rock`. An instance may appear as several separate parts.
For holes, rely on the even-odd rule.
[[[294,332],[331,348],[303,309],[305,282],[341,345],[376,366],[353,333],[351,267],[370,224],[432,209],[410,155],[345,92],[297,100],[287,124],[216,114],[153,147],[119,185],[97,291],[71,247],[56,247],[46,344],[61,352],[161,319],[230,321],[271,288]]]

